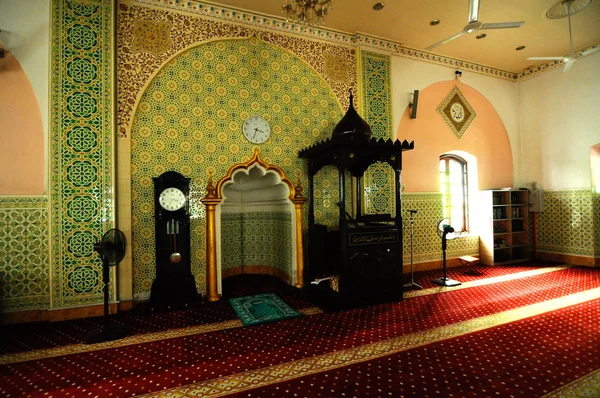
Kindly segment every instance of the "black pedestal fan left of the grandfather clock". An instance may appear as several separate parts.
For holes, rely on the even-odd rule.
[[[84,337],[85,344],[101,343],[118,340],[127,335],[123,325],[111,325],[108,319],[108,284],[110,282],[110,267],[117,266],[125,256],[125,235],[113,228],[107,231],[100,242],[94,244],[94,251],[102,259],[102,282],[104,283],[104,322],[103,325],[90,330]]]

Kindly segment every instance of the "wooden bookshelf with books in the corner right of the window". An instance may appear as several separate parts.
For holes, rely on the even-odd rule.
[[[509,264],[529,259],[529,191],[502,189],[480,192],[482,264]]]

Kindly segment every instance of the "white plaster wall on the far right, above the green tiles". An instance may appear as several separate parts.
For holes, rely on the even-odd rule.
[[[541,189],[590,187],[590,147],[600,143],[600,53],[518,86],[525,181]]]

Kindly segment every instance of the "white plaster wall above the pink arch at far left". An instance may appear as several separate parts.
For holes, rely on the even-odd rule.
[[[50,3],[50,0],[0,0],[0,42],[19,61],[31,82],[42,114],[45,148],[49,131]],[[48,150],[44,152],[47,157]],[[47,159],[44,164],[48,164]],[[46,168],[46,176],[47,173]]]

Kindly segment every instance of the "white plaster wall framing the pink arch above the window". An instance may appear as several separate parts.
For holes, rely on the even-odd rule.
[[[449,68],[408,58],[391,57],[392,74],[392,122],[393,131],[396,133],[402,114],[408,106],[410,96],[414,90],[444,80],[454,78],[456,68]],[[521,156],[521,140],[519,135],[519,107],[517,84],[508,80],[480,75],[468,70],[462,71],[460,80],[485,96],[498,112],[508,133],[513,154],[514,185],[522,186],[524,180]],[[417,108],[417,118],[418,108]],[[419,145],[418,137],[397,137],[409,142],[415,141]]]

